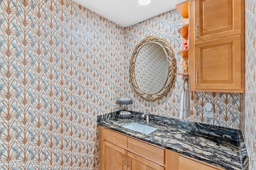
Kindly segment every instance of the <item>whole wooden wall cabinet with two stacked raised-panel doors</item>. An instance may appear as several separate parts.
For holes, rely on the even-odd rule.
[[[190,90],[244,93],[244,0],[190,4]]]

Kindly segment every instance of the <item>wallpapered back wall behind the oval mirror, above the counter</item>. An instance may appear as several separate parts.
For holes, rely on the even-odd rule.
[[[182,58],[177,54],[182,49],[182,39],[178,27],[182,25],[182,18],[176,10],[156,16],[141,23],[126,27],[125,53],[131,56],[136,45],[147,35],[155,35],[166,39],[176,54],[178,72],[182,72]],[[145,102],[134,93],[132,86],[127,94],[134,98],[133,109],[144,112],[146,108],[152,114],[179,118],[180,97],[182,94],[183,78],[176,76],[173,88],[168,95],[155,102]],[[240,129],[241,96],[237,93],[190,92],[192,116],[191,121],[208,123],[223,127]],[[203,106],[206,102],[214,105],[214,117],[204,117]]]

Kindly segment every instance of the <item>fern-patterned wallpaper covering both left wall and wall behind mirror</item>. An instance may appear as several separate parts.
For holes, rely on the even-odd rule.
[[[14,161],[0,168],[97,170],[96,117],[120,96],[134,98],[136,111],[178,118],[182,78],[148,103],[134,94],[128,66],[146,35],[167,39],[177,54],[180,24],[176,10],[122,28],[72,0],[0,0],[0,160]],[[213,119],[203,115],[208,101]],[[240,94],[191,92],[191,108],[191,121],[241,127]]]

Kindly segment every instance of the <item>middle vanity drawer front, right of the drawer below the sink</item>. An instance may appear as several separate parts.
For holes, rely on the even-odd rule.
[[[152,160],[160,165],[164,165],[164,149],[132,138],[128,138],[127,148],[128,150],[135,152],[148,160]]]

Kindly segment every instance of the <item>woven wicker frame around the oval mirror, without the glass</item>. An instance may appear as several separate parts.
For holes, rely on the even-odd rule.
[[[148,43],[156,43],[157,45],[160,45],[166,55],[166,60],[168,61],[168,73],[166,75],[166,81],[164,82],[164,86],[162,86],[161,90],[153,94],[150,94],[148,92],[143,92],[141,90],[141,88],[138,86],[136,75],[135,75],[135,66],[136,66],[136,59],[138,57],[138,53]],[[154,102],[162,98],[163,96],[166,96],[170,88],[172,87],[172,84],[175,78],[175,72],[176,72],[176,59],[174,56],[174,52],[172,51],[172,48],[170,47],[168,41],[160,37],[148,36],[148,37],[145,37],[142,41],[140,41],[138,45],[136,45],[132,53],[132,57],[130,59],[130,81],[132,83],[132,86],[135,92],[141,98],[149,102]]]

